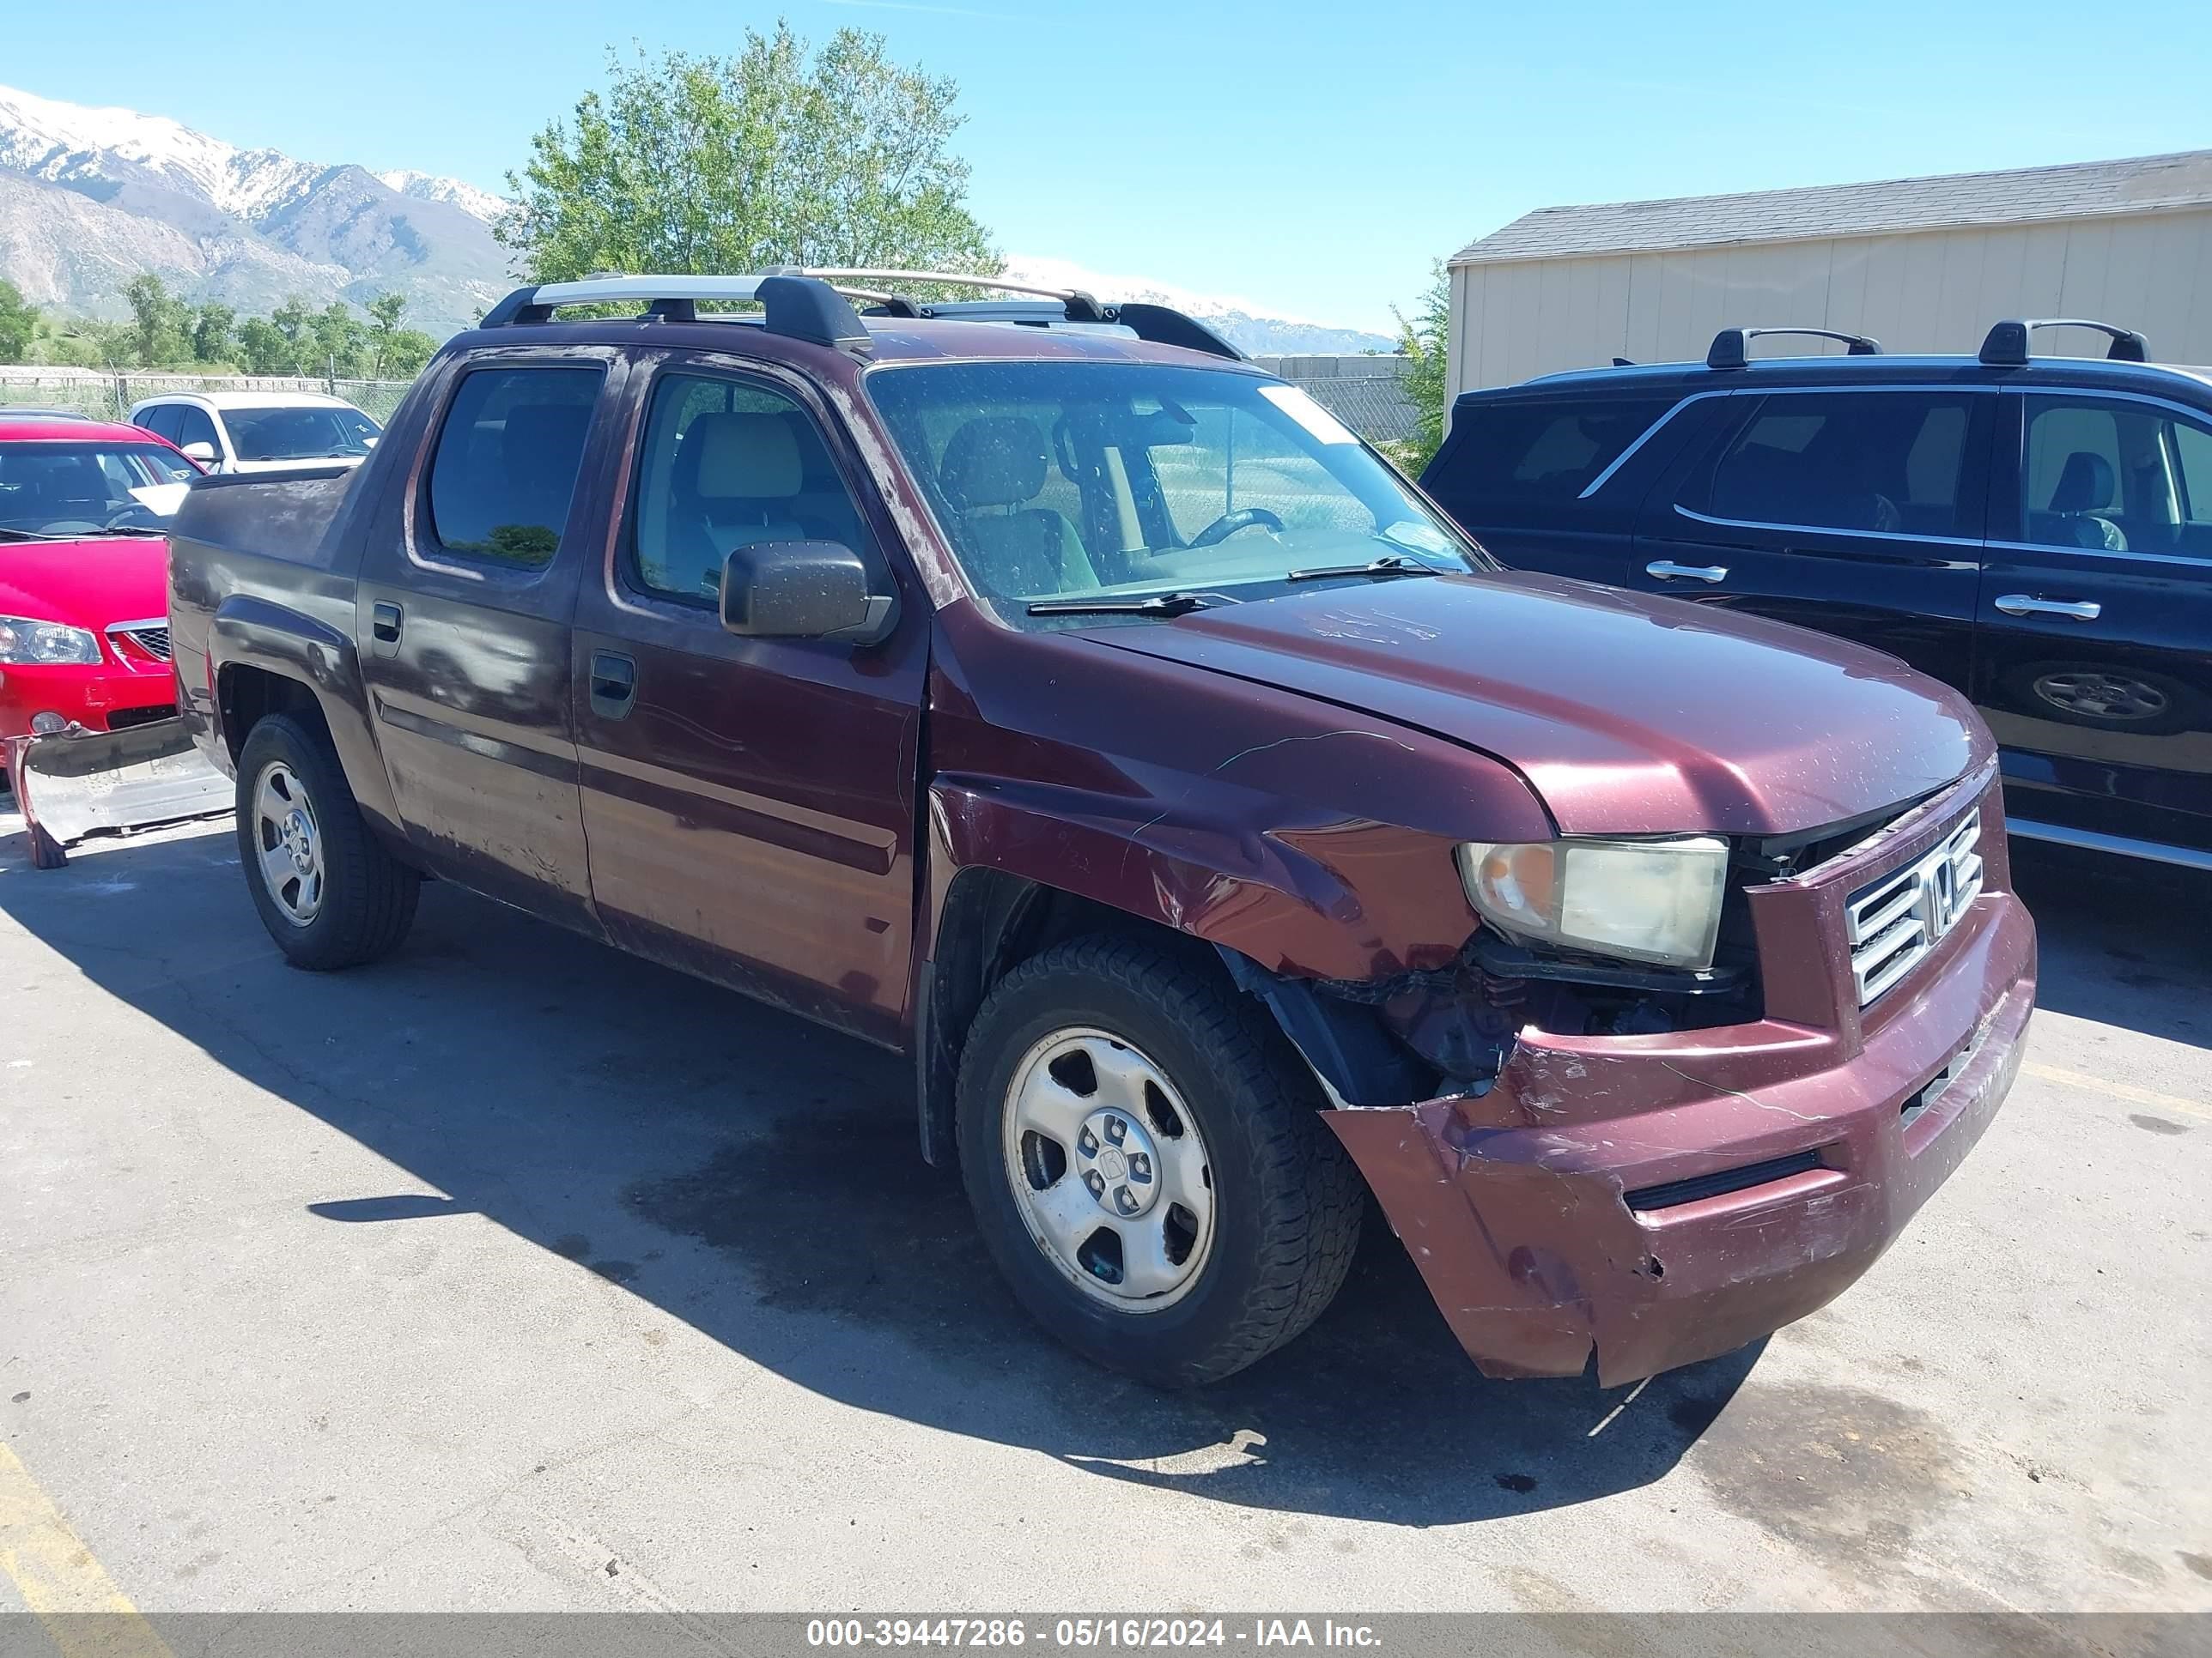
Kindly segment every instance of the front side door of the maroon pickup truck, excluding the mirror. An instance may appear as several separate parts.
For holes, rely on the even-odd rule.
[[[896,1041],[929,608],[909,592],[880,646],[726,632],[732,548],[843,542],[891,590],[889,524],[801,380],[686,354],[639,378],[622,528],[575,612],[599,917],[641,955]]]

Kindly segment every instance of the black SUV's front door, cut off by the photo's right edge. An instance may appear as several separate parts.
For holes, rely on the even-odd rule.
[[[2002,407],[1975,703],[2008,816],[2212,849],[2212,416],[2037,387]]]

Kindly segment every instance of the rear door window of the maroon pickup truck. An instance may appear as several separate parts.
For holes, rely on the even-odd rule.
[[[533,568],[553,562],[602,378],[597,367],[462,376],[429,464],[440,546]]]

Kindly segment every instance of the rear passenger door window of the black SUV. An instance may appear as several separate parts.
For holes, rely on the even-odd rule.
[[[1739,524],[1973,535],[1960,513],[1971,418],[1962,393],[1772,396],[1681,504]]]

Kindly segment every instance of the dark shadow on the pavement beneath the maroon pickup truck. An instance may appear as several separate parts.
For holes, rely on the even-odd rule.
[[[310,1205],[332,1225],[476,1211],[816,1393],[1104,1479],[1411,1525],[1524,1514],[1659,1479],[1756,1362],[1745,1349],[1632,1399],[1593,1377],[1489,1382],[1374,1222],[1298,1342],[1159,1393],[1020,1313],[958,1183],[920,1161],[911,1070],[885,1052],[451,886],[425,889],[389,962],[296,973],[228,836],[64,871],[0,842],[0,909],[442,1194],[334,1192]]]

